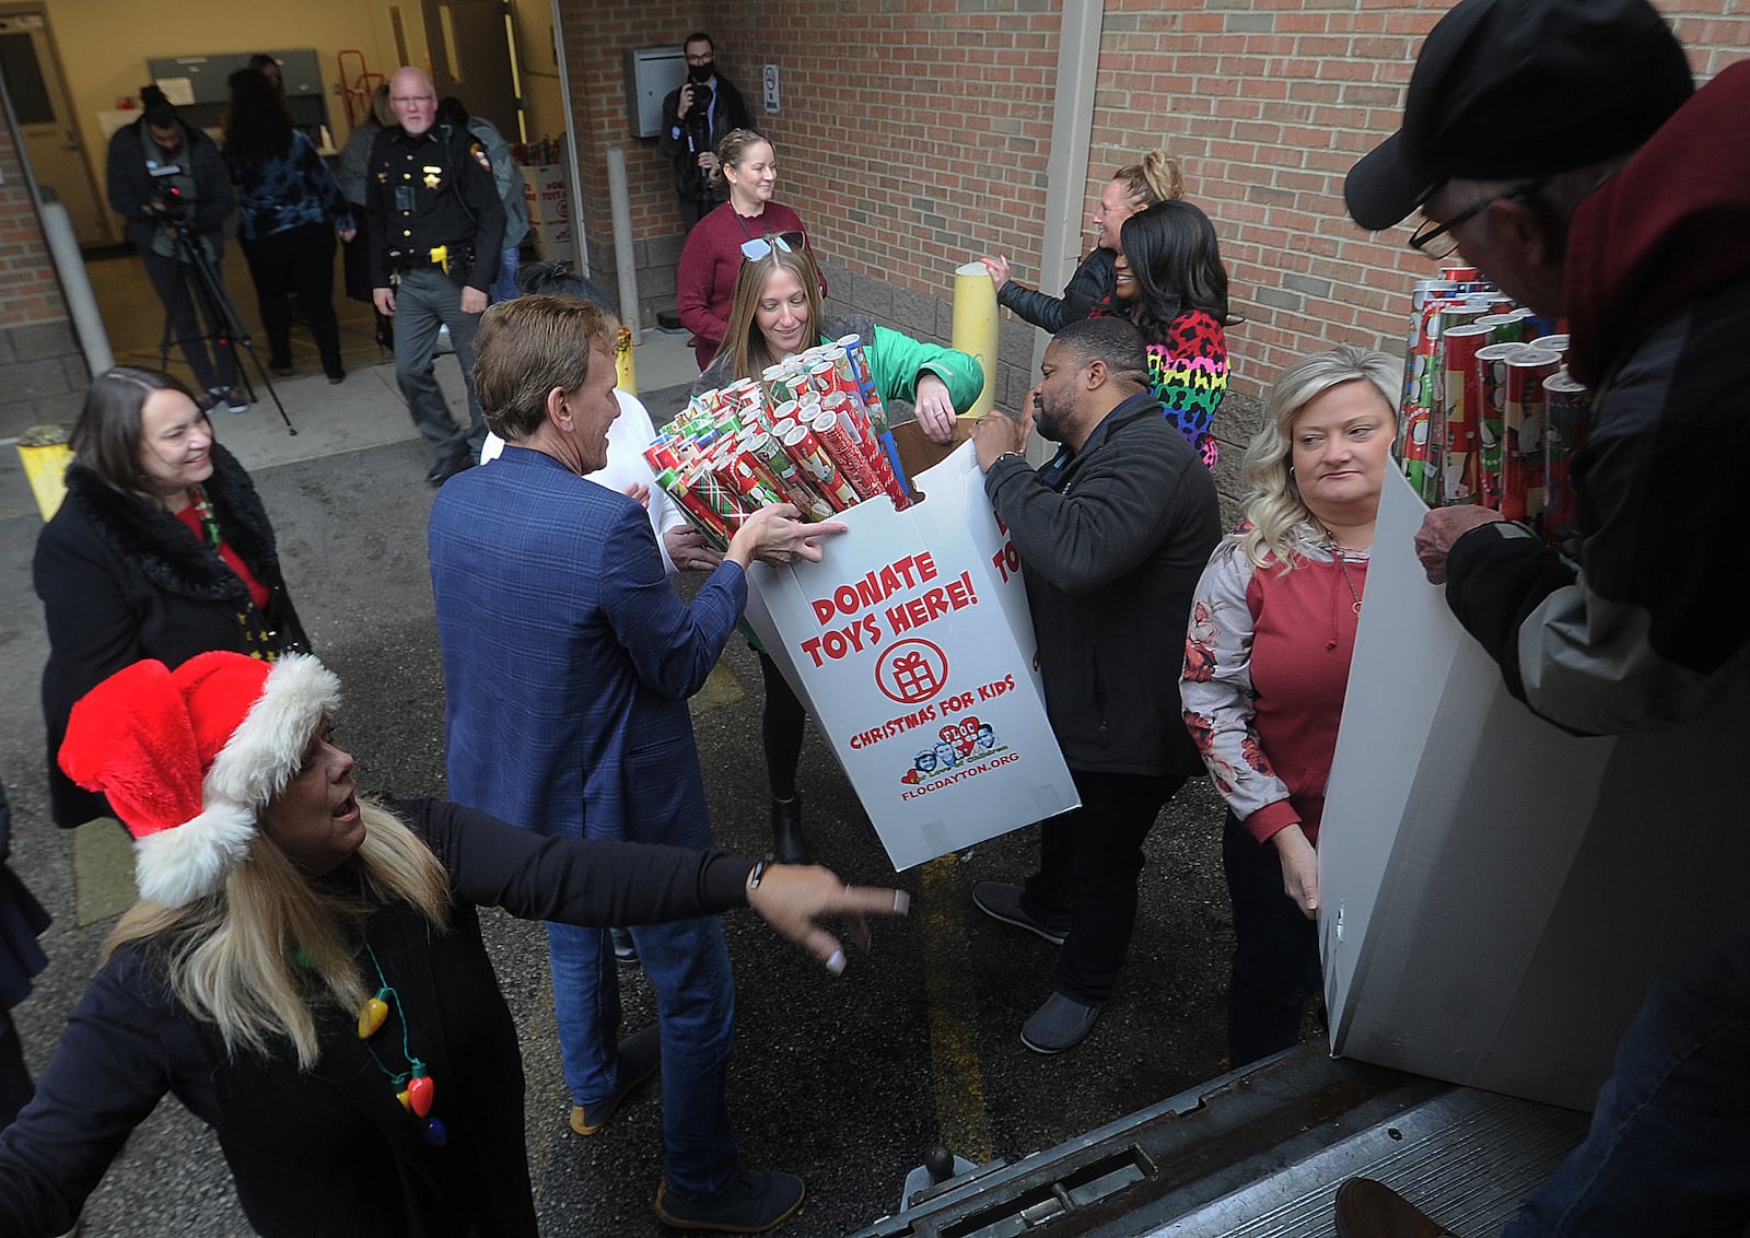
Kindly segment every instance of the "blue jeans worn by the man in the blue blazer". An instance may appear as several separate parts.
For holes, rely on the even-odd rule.
[[[662,1028],[662,1133],[668,1189],[721,1191],[735,1172],[724,1082],[735,1047],[735,984],[716,916],[634,925]],[[548,923],[553,1012],[572,1103],[598,1105],[618,1082],[620,976],[606,928]]]

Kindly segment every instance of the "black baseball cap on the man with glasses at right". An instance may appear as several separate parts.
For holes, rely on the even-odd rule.
[[[1694,89],[1647,0],[1460,0],[1416,58],[1402,128],[1342,198],[1362,227],[1391,227],[1456,177],[1549,177],[1631,150]]]

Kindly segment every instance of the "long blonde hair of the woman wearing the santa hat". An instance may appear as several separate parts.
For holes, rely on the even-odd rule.
[[[364,843],[340,869],[357,881],[312,883],[266,834],[224,888],[180,908],[142,899],[108,941],[107,960],[130,942],[164,951],[177,1000],[212,1023],[226,1051],[266,1054],[285,1039],[303,1070],[322,1053],[315,1011],[332,1004],[352,1014],[376,991],[359,972],[359,944],[371,913],[404,902],[438,932],[448,930],[450,878],[438,857],[394,813],[359,801]]]

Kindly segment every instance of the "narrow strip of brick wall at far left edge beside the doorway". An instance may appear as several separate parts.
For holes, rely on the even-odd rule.
[[[0,437],[10,437],[77,414],[89,376],[4,110],[0,175]]]

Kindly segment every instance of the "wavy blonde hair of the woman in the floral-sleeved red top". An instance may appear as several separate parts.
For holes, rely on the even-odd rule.
[[[1300,498],[1288,465],[1293,455],[1293,425],[1312,399],[1354,381],[1372,383],[1396,418],[1404,369],[1395,358],[1370,348],[1337,344],[1302,357],[1276,379],[1264,409],[1264,425],[1246,448],[1246,525],[1230,535],[1255,567],[1265,567],[1274,554],[1286,572],[1312,549],[1314,544],[1300,532],[1312,512]]]

